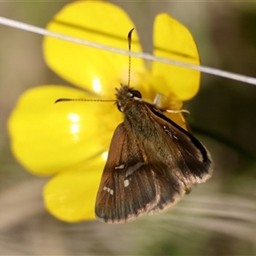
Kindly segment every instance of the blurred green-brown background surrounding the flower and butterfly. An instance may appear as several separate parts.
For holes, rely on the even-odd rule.
[[[0,15],[44,27],[67,2],[0,2]],[[134,20],[152,50],[154,16],[167,12],[189,28],[201,62],[256,77],[256,3],[114,2]],[[202,74],[201,90],[185,103],[196,137],[216,167],[207,183],[172,210],[131,224],[66,224],[44,209],[47,178],[14,159],[6,123],[22,92],[67,84],[44,64],[42,37],[0,25],[0,254],[255,255],[256,88]]]

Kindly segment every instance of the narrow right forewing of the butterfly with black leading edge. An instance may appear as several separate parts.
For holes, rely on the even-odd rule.
[[[177,169],[184,181],[187,180],[189,183],[195,184],[205,182],[211,177],[213,164],[207,148],[163,113],[154,110],[154,106],[149,105],[148,112],[151,112],[151,116],[158,124],[158,129],[163,130],[161,133],[165,132],[168,136],[166,139],[167,150],[173,153]]]

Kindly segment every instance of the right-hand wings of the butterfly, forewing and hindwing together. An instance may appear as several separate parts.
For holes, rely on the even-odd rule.
[[[160,201],[149,212],[152,214],[172,207],[185,193],[189,194],[193,186],[211,177],[213,163],[207,149],[188,131],[168,119],[154,106],[147,104],[147,108],[155,121],[155,131],[161,134],[162,148],[166,150],[162,153],[165,160],[154,168],[155,177],[160,184]],[[162,168],[158,167],[160,165]]]

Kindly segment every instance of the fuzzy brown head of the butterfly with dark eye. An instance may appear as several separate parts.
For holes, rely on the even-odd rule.
[[[131,87],[121,84],[119,89],[116,89],[116,104],[120,112],[124,112],[125,107],[134,101],[142,101],[142,95],[138,90],[133,90]]]

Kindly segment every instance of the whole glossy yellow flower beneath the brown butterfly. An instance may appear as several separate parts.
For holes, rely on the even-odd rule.
[[[130,18],[112,3],[81,1],[67,4],[47,29],[127,49],[126,35],[132,27]],[[142,51],[136,30],[131,49]],[[154,21],[154,55],[199,64],[190,32],[166,14]],[[95,218],[96,191],[121,113],[111,102],[55,101],[113,99],[115,88],[127,84],[128,57],[56,38],[44,38],[44,56],[55,73],[79,89],[44,85],[20,96],[9,118],[11,146],[30,172],[55,175],[44,188],[44,202],[56,218]],[[163,108],[181,108],[183,101],[195,96],[199,81],[200,73],[193,70],[157,62],[147,69],[142,59],[131,58],[131,86],[150,102],[157,93],[165,95]],[[185,127],[181,113],[169,117]]]

